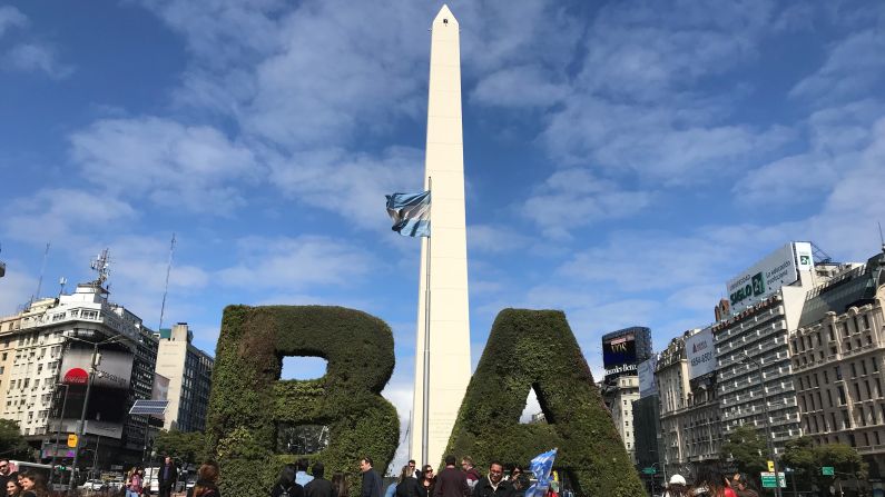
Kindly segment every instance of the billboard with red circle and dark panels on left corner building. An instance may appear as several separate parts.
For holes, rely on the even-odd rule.
[[[126,348],[99,350],[99,364],[89,391],[89,405],[86,411],[88,423],[85,430],[104,437],[120,438],[127,415],[135,356]],[[61,412],[60,417],[65,418],[65,424],[69,420],[76,423],[82,412],[91,360],[91,347],[75,345],[71,345],[61,357],[59,379],[68,385],[67,400],[55,402],[57,408],[55,414],[58,414],[63,405],[65,412]],[[59,389],[59,394],[63,395],[63,389]]]

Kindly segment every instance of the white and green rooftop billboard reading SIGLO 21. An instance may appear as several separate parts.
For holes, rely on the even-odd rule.
[[[759,304],[780,287],[799,279],[798,271],[814,267],[812,243],[791,242],[731,278],[727,284],[731,316]]]

